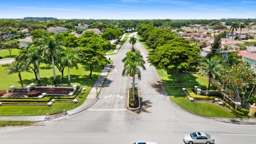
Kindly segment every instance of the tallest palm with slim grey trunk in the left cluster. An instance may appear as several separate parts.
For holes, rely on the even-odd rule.
[[[52,71],[53,71],[53,78],[56,78],[55,74],[55,65],[54,65],[54,57],[59,53],[59,50],[62,49],[60,44],[55,41],[53,38],[44,37],[44,44],[41,46],[41,53],[44,58],[50,57],[52,61]]]

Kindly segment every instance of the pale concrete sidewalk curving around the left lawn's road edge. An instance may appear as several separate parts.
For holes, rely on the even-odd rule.
[[[95,82],[90,93],[87,95],[87,98],[85,99],[84,103],[75,109],[68,110],[67,113],[69,116],[77,114],[83,110],[90,108],[92,105],[94,105],[95,102],[98,101],[98,98],[96,95],[97,93],[96,87],[98,85],[98,92],[99,92],[100,87],[103,85],[103,82],[107,77],[108,71],[110,68],[111,68],[111,64],[107,64],[104,67],[98,80]],[[0,116],[0,121],[45,121],[45,120],[46,120],[45,115],[43,116]]]

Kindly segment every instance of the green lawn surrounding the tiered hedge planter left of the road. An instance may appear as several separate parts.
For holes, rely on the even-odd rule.
[[[89,67],[84,67],[79,65],[79,69],[70,69],[71,83],[81,84],[86,88],[86,91],[78,100],[78,103],[68,103],[68,102],[57,102],[53,103],[52,107],[47,106],[1,106],[0,116],[35,116],[35,115],[45,115],[45,114],[55,114],[59,111],[70,110],[81,105],[86,99],[87,95],[92,89],[92,86],[97,81],[103,68],[97,68],[93,71],[92,80],[89,80]],[[46,65],[41,65],[40,69],[41,77],[53,78],[51,66],[46,67]],[[58,69],[56,69],[56,74],[61,75]],[[65,69],[64,75],[67,77],[67,68]],[[4,68],[0,65],[0,87],[1,89],[8,90],[10,85],[15,85],[20,87],[19,78],[17,74],[8,75]],[[34,73],[23,72],[21,73],[23,83],[30,84],[35,82]]]

